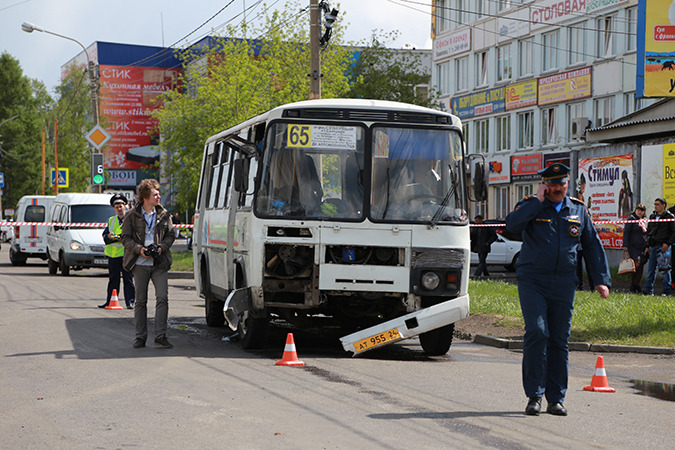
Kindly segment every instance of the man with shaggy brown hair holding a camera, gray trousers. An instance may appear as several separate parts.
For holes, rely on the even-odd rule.
[[[141,181],[138,205],[127,213],[122,223],[124,268],[131,271],[136,283],[134,348],[145,347],[148,338],[148,285],[155,287],[155,344],[172,348],[166,337],[169,316],[169,276],[171,245],[176,239],[171,214],[162,207],[159,182]]]

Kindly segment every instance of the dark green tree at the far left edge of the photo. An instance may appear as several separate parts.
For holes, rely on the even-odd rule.
[[[52,104],[39,81],[23,75],[19,61],[0,56],[0,171],[5,174],[3,207],[24,195],[42,193],[41,128]]]

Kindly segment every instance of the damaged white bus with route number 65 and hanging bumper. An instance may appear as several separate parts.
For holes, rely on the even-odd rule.
[[[469,314],[467,202],[486,188],[461,130],[441,111],[333,99],[209,138],[193,236],[207,324],[227,320],[244,348],[274,319],[339,325],[355,354],[416,335],[447,353]]]

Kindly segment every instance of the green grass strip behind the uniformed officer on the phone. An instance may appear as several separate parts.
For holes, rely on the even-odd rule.
[[[469,281],[471,312],[504,316],[501,325],[522,327],[517,286],[501,281]],[[577,292],[571,341],[597,344],[675,347],[675,298]]]

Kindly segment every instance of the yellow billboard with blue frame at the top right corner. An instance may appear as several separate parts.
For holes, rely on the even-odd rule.
[[[641,0],[637,34],[636,97],[675,97],[675,2]]]

